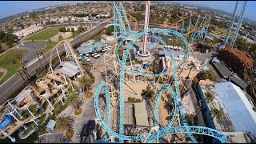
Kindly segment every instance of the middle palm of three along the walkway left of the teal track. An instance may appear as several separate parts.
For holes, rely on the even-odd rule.
[[[71,105],[74,109],[77,109],[82,106],[82,100],[78,94],[78,92],[71,92],[67,94],[66,102],[67,105]]]

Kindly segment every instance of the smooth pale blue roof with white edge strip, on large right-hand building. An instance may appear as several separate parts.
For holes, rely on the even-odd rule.
[[[236,132],[256,134],[256,112],[242,90],[232,82],[214,84]]]

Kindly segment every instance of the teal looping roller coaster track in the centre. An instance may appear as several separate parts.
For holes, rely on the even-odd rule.
[[[119,112],[119,114],[120,115],[119,115],[118,133],[115,132],[114,130],[111,130],[111,128],[110,128],[110,122],[111,122],[110,106],[111,106],[111,103],[110,103],[109,87],[106,85],[105,82],[101,82],[97,86],[97,89],[94,94],[94,109],[95,109],[95,113],[96,113],[96,118],[98,120],[98,123],[103,127],[104,130],[106,130],[106,134],[111,135],[114,138],[118,138],[119,142],[123,142],[124,140],[130,140],[130,141],[145,141],[146,140],[146,142],[149,142],[149,143],[154,142],[154,140],[156,138],[160,138],[166,134],[188,134],[191,141],[197,143],[198,141],[194,138],[193,134],[203,134],[203,135],[208,135],[213,138],[217,138],[222,143],[226,143],[227,142],[226,136],[224,134],[220,133],[218,130],[210,129],[210,128],[207,128],[204,126],[188,126],[188,124],[186,122],[184,110],[182,108],[182,101],[181,101],[180,90],[179,90],[179,86],[178,86],[178,74],[177,74],[178,68],[180,66],[182,66],[182,64],[184,62],[186,62],[187,55],[189,54],[189,51],[190,51],[189,44],[186,41],[186,38],[182,34],[178,33],[178,31],[176,31],[176,30],[159,29],[159,28],[150,28],[149,30],[146,30],[146,31],[142,30],[141,32],[131,34],[129,24],[127,26],[127,24],[125,24],[122,21],[123,17],[126,19],[126,13],[125,13],[125,10],[123,9],[122,3],[114,2],[114,27],[115,27],[115,29],[118,29],[118,28],[121,29],[120,34],[122,35],[122,40],[118,42],[118,45],[117,45],[116,51],[115,51],[117,61],[121,65],[120,78],[119,78],[120,79],[120,82],[119,82],[119,84],[120,84],[120,87],[119,87],[119,110],[120,110],[120,112]],[[209,25],[209,22],[206,22],[206,24]],[[126,27],[128,27],[128,30],[126,30]],[[204,31],[204,33],[205,33],[205,31]],[[173,54],[171,54],[170,49],[167,48],[166,42],[162,41],[162,38],[159,38],[159,37],[155,36],[154,34],[161,34],[161,35],[165,35],[165,36],[175,35],[176,37],[182,39],[182,42],[184,42],[185,47],[186,47],[185,56],[182,59],[182,61],[180,63],[178,63],[177,66],[174,66],[174,65],[171,66],[171,70],[173,72],[173,77],[174,77],[174,89],[175,90],[173,90],[170,86],[162,86],[162,88],[160,90],[158,90],[158,94],[157,94],[156,102],[155,102],[156,104],[154,107],[154,125],[158,126],[158,123],[159,123],[159,118],[158,118],[159,105],[158,105],[158,103],[161,98],[163,90],[169,90],[170,94],[174,98],[174,112],[173,112],[172,118],[170,118],[170,121],[168,122],[168,124],[165,127],[150,134],[147,139],[141,135],[138,135],[138,136],[124,135],[124,124],[123,124],[124,74],[126,71],[128,71],[128,72],[132,72],[134,74],[141,75],[144,77],[152,77],[152,76],[158,77],[163,74],[170,74],[170,72],[167,71],[165,73],[160,73],[160,74],[143,74],[138,71],[135,72],[132,69],[126,69],[126,59],[128,57],[129,50],[134,45],[134,42],[136,42],[136,40],[138,40],[138,38],[141,38],[145,34],[149,35],[152,38],[156,38],[159,42],[162,43],[162,45],[165,46],[165,49],[170,54],[170,61],[173,64],[174,64],[174,56],[173,56]],[[192,37],[194,37],[194,34],[192,34]],[[123,42],[126,41],[127,38],[133,38],[133,40],[128,44],[128,46],[126,48],[126,52],[123,55],[122,61],[121,61],[118,56],[118,48],[119,48],[119,46],[122,45]],[[102,90],[102,88],[105,90],[105,93],[106,93],[106,122],[104,122],[102,120],[102,115],[100,113],[100,109],[98,106],[98,98],[99,98],[99,94],[100,94],[100,91]],[[183,126],[173,126],[174,121],[178,117],[178,115],[182,120]]]

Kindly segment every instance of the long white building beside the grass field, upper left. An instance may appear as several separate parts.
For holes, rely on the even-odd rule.
[[[32,25],[32,26],[29,26],[27,27],[26,29],[22,29],[22,30],[18,30],[16,32],[14,32],[15,35],[18,36],[18,38],[22,38],[22,37],[26,37],[30,34],[33,34],[39,30],[42,30],[43,27],[41,25]]]

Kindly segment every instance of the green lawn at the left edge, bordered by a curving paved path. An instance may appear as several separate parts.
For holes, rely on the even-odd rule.
[[[13,60],[17,54],[22,54],[22,57],[24,57],[27,53],[27,50],[10,50],[6,54],[0,56],[0,67],[7,70],[6,77],[2,78],[0,84],[17,73],[19,66],[18,63],[14,63]]]

